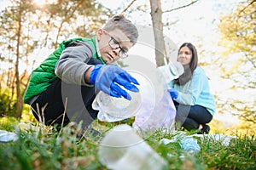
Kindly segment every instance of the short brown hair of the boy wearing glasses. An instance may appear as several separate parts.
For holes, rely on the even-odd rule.
[[[114,29],[123,31],[131,43],[135,44],[137,42],[137,27],[131,23],[131,20],[125,19],[124,14],[114,15],[103,27],[103,30],[106,31],[113,31]]]

